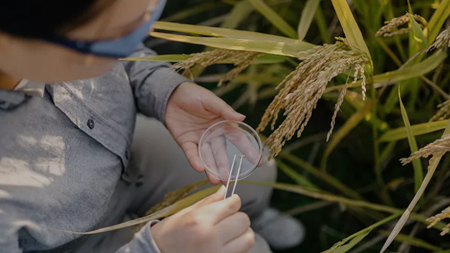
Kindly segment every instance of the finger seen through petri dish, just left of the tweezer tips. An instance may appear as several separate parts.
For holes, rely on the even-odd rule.
[[[211,140],[211,150],[216,162],[219,179],[222,181],[228,180],[230,162],[228,161],[227,144],[224,136],[217,136]]]

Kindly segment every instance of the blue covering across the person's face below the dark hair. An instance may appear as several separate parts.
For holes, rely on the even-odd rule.
[[[142,24],[134,32],[114,40],[82,41],[54,37],[45,39],[48,42],[70,48],[84,54],[92,54],[111,58],[123,58],[133,53],[134,49],[147,38],[151,26],[161,17],[166,0],[159,0],[150,20]]]

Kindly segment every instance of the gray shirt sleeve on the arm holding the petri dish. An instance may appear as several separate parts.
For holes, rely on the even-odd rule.
[[[156,53],[141,44],[130,57],[154,56]],[[181,76],[165,62],[124,61],[140,113],[153,117],[163,124],[167,102],[172,92],[191,80]]]

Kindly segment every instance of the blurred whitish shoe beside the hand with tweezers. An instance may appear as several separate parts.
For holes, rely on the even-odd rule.
[[[260,234],[274,250],[284,250],[298,246],[305,237],[303,224],[273,208],[267,208],[252,221],[253,230]]]

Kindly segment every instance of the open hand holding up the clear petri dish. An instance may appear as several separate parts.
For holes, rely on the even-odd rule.
[[[169,99],[165,116],[167,128],[198,172],[205,170],[198,154],[198,143],[203,132],[219,121],[244,119],[244,115],[237,113],[214,93],[194,83],[178,86]],[[212,184],[220,182],[211,175],[207,176]]]

